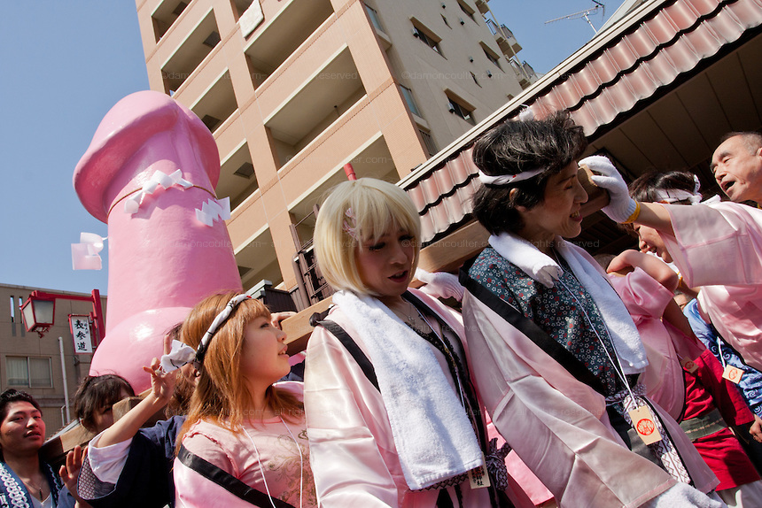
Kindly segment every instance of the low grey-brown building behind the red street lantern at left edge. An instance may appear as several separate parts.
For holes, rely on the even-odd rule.
[[[46,437],[55,434],[68,422],[64,396],[64,374],[61,366],[60,346],[58,337],[62,338],[64,346],[64,364],[66,366],[66,389],[69,394],[69,412],[74,419],[74,393],[82,378],[89,372],[92,354],[75,354],[74,337],[71,334],[68,323],[70,314],[87,315],[93,310],[93,305],[87,301],[56,300],[54,325],[40,338],[36,332],[27,332],[21,319],[19,305],[23,304],[29,294],[35,289],[27,286],[13,286],[0,284],[0,301],[3,302],[4,310],[0,312],[0,391],[5,389],[19,389],[26,391],[40,403],[43,409],[43,419],[46,426]],[[46,292],[60,293],[65,295],[88,296],[82,293],[66,293],[42,289]],[[105,296],[101,298],[101,305],[105,315]],[[29,386],[29,384],[10,384],[8,358],[33,358],[35,366],[41,361],[50,362],[51,376],[50,386]],[[11,360],[12,361],[12,360]],[[34,367],[33,367],[34,368]],[[40,379],[40,378],[38,378]],[[32,382],[32,384],[44,385],[47,383]],[[64,415],[62,417],[62,414]]]

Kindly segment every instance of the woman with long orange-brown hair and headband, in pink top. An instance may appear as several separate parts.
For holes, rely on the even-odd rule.
[[[175,459],[177,506],[314,507],[302,387],[285,334],[246,295],[210,296],[181,330],[202,336],[191,409]],[[274,384],[275,383],[275,384]]]

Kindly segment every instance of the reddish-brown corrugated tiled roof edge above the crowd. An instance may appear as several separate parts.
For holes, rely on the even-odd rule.
[[[400,182],[421,213],[424,244],[470,219],[470,196],[478,185],[470,145],[517,116],[522,104],[537,118],[569,109],[590,137],[760,25],[762,0],[643,4]]]

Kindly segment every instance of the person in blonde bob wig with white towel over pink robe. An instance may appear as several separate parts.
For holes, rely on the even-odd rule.
[[[308,343],[305,408],[326,508],[498,503],[460,316],[408,290],[419,249],[416,208],[391,183],[343,182],[318,213],[318,265],[338,292]]]

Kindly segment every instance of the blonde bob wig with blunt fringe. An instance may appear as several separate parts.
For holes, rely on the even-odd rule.
[[[373,178],[339,183],[331,189],[315,223],[315,255],[325,280],[334,289],[374,295],[360,278],[356,250],[362,242],[375,241],[397,228],[414,239],[412,279],[421,249],[421,219],[408,194]]]

